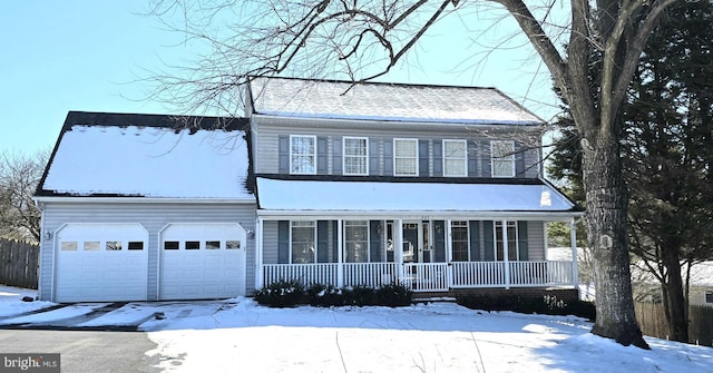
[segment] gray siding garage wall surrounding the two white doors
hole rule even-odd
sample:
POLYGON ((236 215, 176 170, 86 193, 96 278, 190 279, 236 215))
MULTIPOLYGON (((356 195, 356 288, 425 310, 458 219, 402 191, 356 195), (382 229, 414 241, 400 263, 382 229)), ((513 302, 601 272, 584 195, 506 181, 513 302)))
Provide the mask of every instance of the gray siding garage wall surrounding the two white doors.
MULTIPOLYGON (((47 203, 43 207, 42 230, 52 233, 52 239, 40 245, 41 300, 52 297, 55 266, 55 233, 67 223, 139 223, 149 233, 148 242, 148 300, 158 297, 158 234, 169 223, 238 223, 245 230, 255 232, 254 204, 139 204, 139 203, 47 203)), ((246 292, 255 283, 255 239, 247 238, 246 292)))

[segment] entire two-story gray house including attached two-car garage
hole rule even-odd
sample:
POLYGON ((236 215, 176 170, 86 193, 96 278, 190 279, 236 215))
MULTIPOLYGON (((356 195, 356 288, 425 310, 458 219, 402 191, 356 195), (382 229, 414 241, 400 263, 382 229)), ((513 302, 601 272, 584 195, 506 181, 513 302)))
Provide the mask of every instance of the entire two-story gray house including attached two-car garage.
POLYGON ((576 289, 543 121, 490 88, 256 78, 245 118, 68 115, 38 187, 39 296, 219 298, 277 279, 576 289))

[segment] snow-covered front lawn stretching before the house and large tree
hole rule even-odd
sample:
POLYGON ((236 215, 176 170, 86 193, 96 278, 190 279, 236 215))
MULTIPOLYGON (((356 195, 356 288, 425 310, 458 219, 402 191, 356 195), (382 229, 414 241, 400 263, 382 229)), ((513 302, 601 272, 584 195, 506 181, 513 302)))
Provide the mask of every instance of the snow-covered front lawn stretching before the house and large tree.
MULTIPOLYGON (((0 296, 0 314, 20 304, 8 298, 0 296)), ((653 350, 643 351, 592 335, 577 317, 453 303, 289 310, 250 298, 133 303, 94 323, 155 313, 163 317, 140 327, 158 344, 147 354, 158 354, 167 372, 713 372, 712 347, 647 338, 653 350)))

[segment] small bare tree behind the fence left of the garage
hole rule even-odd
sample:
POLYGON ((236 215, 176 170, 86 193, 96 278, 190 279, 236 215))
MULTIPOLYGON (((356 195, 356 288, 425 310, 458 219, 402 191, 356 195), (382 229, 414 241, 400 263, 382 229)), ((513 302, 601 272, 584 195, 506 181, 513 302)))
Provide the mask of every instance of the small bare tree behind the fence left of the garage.
POLYGON ((0 237, 39 242, 41 214, 32 196, 48 158, 49 151, 0 154, 0 237))

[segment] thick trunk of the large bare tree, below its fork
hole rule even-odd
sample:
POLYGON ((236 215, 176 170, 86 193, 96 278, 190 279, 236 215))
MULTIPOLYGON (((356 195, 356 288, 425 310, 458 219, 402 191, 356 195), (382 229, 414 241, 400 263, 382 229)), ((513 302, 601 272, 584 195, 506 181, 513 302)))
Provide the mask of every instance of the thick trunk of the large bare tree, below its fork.
POLYGON ((612 131, 588 135, 583 139, 582 168, 588 241, 595 257, 597 316, 592 333, 648 350, 634 314, 619 145, 612 131))

